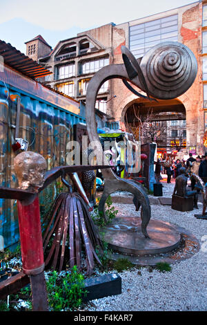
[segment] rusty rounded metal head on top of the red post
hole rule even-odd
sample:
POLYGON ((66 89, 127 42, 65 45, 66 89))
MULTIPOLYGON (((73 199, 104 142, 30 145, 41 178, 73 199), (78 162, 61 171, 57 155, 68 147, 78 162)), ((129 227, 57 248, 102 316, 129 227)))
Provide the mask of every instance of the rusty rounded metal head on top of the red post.
POLYGON ((14 158, 14 171, 19 182, 19 189, 28 189, 37 193, 43 186, 47 169, 45 158, 32 151, 24 151, 14 158))

